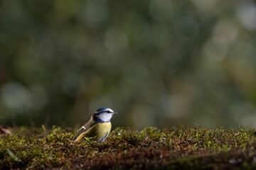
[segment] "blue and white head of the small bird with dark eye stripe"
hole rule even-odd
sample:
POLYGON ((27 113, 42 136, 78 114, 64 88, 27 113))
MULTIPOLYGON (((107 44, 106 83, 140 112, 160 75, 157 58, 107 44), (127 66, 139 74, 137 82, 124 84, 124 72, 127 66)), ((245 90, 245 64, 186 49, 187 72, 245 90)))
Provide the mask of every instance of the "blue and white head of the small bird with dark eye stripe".
POLYGON ((113 115, 116 115, 111 108, 99 108, 92 115, 92 119, 97 122, 110 122, 113 115))

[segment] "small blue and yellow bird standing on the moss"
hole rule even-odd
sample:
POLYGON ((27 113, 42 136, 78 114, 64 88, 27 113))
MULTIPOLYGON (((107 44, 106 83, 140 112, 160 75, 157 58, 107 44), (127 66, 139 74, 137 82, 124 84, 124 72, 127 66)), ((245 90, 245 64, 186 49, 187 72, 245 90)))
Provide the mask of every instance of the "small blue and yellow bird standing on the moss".
POLYGON ((111 108, 99 108, 92 114, 90 120, 78 130, 73 142, 78 142, 84 137, 95 137, 95 140, 103 142, 110 134, 112 115, 116 115, 111 108))

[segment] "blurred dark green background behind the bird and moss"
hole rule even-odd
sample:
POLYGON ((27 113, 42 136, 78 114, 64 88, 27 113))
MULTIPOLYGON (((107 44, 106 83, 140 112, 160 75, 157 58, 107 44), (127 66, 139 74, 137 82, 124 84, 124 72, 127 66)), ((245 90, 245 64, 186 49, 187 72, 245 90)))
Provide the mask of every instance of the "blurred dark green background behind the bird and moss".
POLYGON ((0 1, 0 125, 256 127, 255 1, 0 1))

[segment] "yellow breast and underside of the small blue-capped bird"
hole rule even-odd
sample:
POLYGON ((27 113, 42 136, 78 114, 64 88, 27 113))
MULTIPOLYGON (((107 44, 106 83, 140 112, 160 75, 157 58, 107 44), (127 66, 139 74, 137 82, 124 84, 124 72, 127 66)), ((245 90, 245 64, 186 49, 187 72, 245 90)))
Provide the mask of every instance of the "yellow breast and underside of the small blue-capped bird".
POLYGON ((110 134, 111 123, 97 123, 92 126, 89 130, 83 132, 77 140, 83 137, 96 137, 97 141, 103 142, 107 136, 110 134))

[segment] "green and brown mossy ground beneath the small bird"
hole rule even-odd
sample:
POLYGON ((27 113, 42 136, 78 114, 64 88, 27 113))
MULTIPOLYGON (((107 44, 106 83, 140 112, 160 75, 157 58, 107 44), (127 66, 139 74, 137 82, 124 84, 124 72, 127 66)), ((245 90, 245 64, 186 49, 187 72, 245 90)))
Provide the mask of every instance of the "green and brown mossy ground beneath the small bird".
POLYGON ((0 169, 256 169, 255 129, 142 131, 70 145, 71 128, 14 128, 0 137, 0 169))

